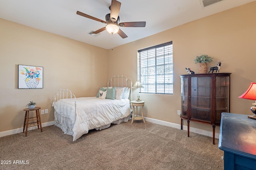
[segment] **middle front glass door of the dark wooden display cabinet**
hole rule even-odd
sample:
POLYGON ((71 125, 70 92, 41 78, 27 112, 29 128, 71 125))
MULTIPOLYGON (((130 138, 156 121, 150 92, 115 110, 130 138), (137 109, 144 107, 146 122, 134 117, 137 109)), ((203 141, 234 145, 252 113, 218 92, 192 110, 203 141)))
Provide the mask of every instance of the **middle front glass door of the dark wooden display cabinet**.
POLYGON ((211 121, 211 77, 191 78, 191 119, 211 121))

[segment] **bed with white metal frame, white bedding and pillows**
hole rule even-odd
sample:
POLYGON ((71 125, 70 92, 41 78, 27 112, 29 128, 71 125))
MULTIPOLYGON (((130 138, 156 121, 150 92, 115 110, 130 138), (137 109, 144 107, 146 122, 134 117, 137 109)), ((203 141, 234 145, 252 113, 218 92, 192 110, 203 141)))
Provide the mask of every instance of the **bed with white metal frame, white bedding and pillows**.
POLYGON ((112 76, 107 87, 100 87, 97 96, 76 98, 71 90, 58 90, 54 95, 54 125, 73 141, 91 129, 101 130, 111 123, 127 122, 131 117, 132 80, 112 76))

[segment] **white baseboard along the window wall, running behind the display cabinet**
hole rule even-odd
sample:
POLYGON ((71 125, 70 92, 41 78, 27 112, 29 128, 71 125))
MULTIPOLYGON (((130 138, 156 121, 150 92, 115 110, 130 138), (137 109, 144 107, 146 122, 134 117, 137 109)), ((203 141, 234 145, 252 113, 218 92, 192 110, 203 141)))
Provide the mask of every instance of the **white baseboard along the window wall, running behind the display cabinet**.
MULTIPOLYGON (((145 121, 149 121, 149 122, 156 123, 156 124, 159 124, 159 125, 164 125, 164 126, 169 126, 169 127, 174 127, 174 128, 180 129, 180 125, 176 124, 176 123, 170 123, 170 122, 167 122, 167 121, 152 119, 152 118, 148 118, 148 117, 144 117, 144 119, 145 119, 145 121)), ((187 126, 183 125, 182 129, 185 130, 185 131, 188 131, 187 126)), ((208 136, 208 137, 212 137, 212 131, 206 131, 206 130, 197 129, 197 128, 194 128, 194 127, 189 127, 189 131, 194 132, 194 133, 198 133, 200 135, 205 135, 205 136, 208 136)), ((215 132, 215 138, 219 139, 219 137, 220 137, 220 133, 215 132)))

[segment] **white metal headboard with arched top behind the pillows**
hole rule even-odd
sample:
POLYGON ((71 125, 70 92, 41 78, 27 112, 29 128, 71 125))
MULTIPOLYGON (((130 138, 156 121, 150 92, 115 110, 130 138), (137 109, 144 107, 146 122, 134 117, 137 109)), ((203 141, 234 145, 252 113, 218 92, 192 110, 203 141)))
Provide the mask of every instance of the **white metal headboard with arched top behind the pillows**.
POLYGON ((108 87, 128 87, 130 88, 130 101, 132 101, 132 79, 126 76, 112 76, 108 79, 108 87), (128 82, 130 81, 130 84, 128 82))

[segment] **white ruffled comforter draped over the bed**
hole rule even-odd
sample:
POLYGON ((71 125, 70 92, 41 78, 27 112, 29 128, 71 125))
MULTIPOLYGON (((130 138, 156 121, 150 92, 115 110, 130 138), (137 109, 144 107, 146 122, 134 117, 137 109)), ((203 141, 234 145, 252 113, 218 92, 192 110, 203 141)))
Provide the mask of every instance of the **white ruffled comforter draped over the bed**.
POLYGON ((119 124, 130 118, 130 100, 110 100, 96 97, 62 99, 53 103, 55 125, 64 133, 73 136, 73 141, 90 129, 105 129, 111 123, 119 124), (63 102, 64 101, 64 102, 63 102), (68 104, 66 104, 68 103, 68 104), (70 114, 72 113, 72 114, 70 114))

